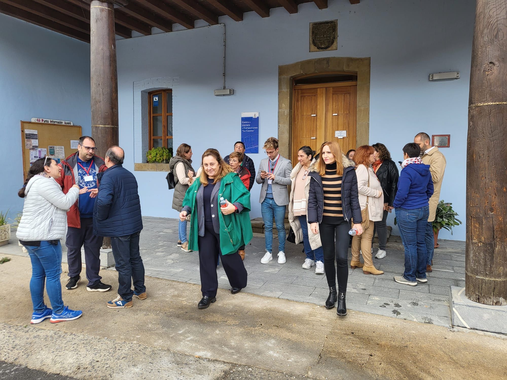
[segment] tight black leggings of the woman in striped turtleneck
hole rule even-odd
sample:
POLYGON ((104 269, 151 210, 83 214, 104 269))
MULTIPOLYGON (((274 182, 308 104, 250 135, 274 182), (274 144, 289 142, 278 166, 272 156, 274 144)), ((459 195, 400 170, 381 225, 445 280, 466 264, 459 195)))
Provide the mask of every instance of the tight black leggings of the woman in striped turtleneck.
POLYGON ((320 241, 324 250, 325 277, 329 286, 335 286, 338 278, 338 291, 343 293, 347 291, 349 230, 350 222, 345 219, 338 224, 319 224, 320 241))

